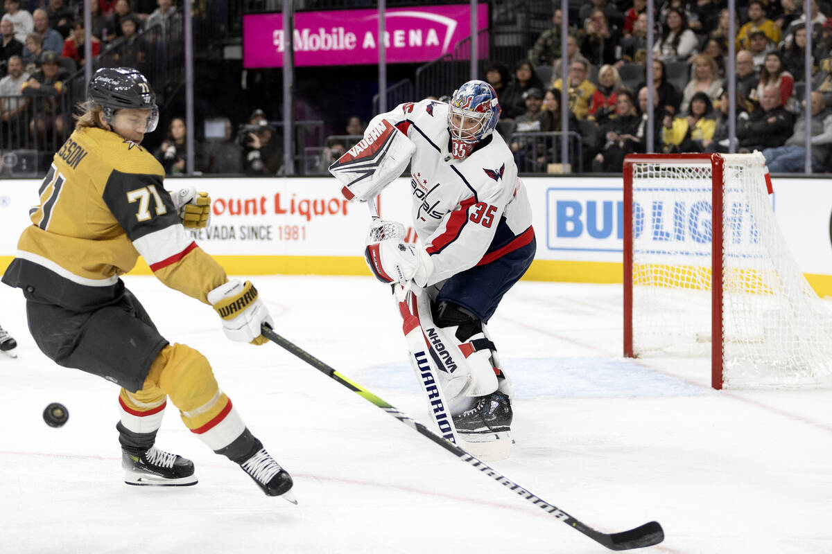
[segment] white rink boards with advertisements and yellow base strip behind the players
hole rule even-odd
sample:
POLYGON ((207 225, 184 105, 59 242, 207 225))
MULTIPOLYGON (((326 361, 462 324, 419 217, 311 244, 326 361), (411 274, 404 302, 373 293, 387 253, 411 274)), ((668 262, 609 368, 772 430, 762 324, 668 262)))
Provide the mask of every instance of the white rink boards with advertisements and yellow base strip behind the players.
MULTIPOLYGON (((563 282, 622 281, 622 179, 524 178, 532 203, 537 257, 525 278, 563 282)), ((0 180, 0 271, 30 224, 40 182, 0 180)), ((213 200, 210 228, 193 232, 202 248, 232 274, 366 275, 362 257, 369 212, 347 203, 333 179, 169 179, 213 200)), ((830 179, 773 179, 772 202, 786 243, 810 284, 832 296, 830 179)), ((411 221, 407 179, 385 189, 383 218, 411 221)), ((644 207, 646 210, 655 206, 644 207)), ((671 213, 672 207, 666 207, 671 213)), ((652 218, 651 221, 654 221, 652 218)), ((690 222, 681 222, 690 228, 690 222)), ((660 223, 661 224, 661 223, 660 223)), ((673 223, 666 225, 672 228, 673 223)), ((408 228, 409 240, 414 239, 408 228)), ((150 269, 141 261, 134 273, 150 269)))

